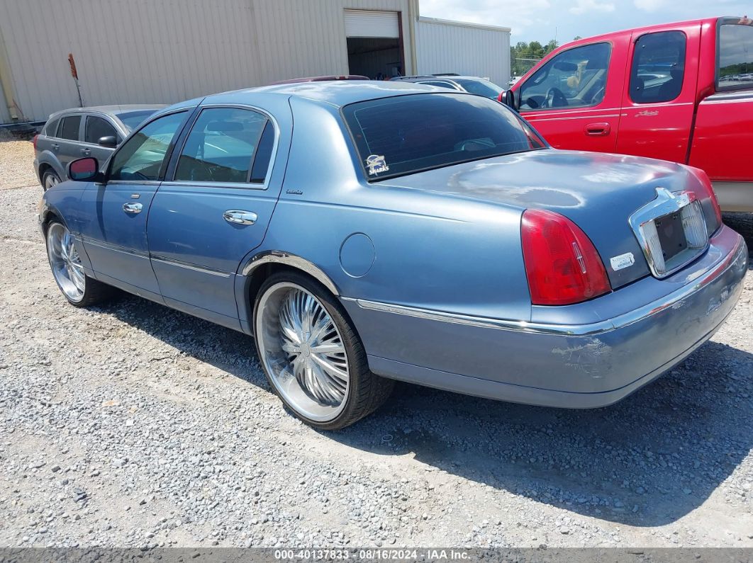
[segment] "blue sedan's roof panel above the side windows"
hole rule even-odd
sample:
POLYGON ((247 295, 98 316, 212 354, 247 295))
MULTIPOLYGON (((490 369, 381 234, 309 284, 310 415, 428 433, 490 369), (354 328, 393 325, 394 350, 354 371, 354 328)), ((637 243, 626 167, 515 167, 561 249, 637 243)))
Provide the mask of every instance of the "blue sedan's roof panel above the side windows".
MULTIPOLYGON (((196 103, 201 104, 248 104, 261 101, 268 96, 286 98, 305 98, 319 101, 335 107, 342 107, 356 101, 391 98, 396 95, 424 94, 427 92, 447 93, 447 89, 424 84, 392 82, 391 80, 333 80, 330 82, 288 83, 272 86, 260 86, 221 92, 209 95, 196 103)), ((186 107, 188 102, 181 102, 169 107, 167 111, 186 107)))

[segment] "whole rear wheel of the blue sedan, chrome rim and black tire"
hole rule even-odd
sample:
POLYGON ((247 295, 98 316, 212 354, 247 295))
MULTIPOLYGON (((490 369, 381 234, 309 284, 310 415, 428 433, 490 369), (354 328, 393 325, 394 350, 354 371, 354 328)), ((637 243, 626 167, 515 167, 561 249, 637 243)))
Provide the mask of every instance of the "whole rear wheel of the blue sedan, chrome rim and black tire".
POLYGON ((343 306, 320 283, 281 272, 254 307, 256 349, 270 385, 295 416, 339 430, 377 410, 394 381, 369 371, 343 306))

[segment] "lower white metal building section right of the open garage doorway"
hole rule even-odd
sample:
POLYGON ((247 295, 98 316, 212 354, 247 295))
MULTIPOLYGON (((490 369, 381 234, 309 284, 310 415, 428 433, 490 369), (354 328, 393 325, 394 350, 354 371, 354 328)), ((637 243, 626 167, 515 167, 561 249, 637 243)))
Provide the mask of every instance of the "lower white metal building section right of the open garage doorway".
POLYGON ((416 26, 419 74, 456 72, 510 81, 510 29, 420 17, 416 26))

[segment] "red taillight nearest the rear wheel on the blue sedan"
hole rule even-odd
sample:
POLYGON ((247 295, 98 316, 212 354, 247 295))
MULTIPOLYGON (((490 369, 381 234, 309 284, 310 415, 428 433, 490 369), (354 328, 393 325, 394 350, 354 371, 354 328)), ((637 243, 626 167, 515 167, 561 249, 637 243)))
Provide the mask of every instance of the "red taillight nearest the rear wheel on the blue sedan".
POLYGON ((596 248, 567 217, 526 210, 521 234, 533 304, 567 305, 611 291, 596 248))

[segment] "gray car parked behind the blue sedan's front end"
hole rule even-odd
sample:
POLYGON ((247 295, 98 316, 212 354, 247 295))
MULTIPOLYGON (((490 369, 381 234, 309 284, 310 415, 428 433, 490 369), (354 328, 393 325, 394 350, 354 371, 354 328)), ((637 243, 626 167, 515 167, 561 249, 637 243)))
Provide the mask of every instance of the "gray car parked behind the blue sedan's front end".
POLYGON ((75 107, 50 115, 34 138, 34 169, 47 191, 67 180, 69 162, 93 156, 105 162, 130 132, 164 105, 75 107))

